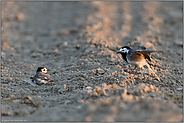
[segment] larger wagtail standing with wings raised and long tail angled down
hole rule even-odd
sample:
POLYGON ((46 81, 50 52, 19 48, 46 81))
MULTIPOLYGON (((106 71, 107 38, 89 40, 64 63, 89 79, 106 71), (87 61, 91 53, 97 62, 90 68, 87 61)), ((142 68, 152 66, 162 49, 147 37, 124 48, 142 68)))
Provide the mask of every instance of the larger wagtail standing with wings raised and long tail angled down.
MULTIPOLYGON (((152 52, 160 52, 160 51, 133 50, 129 46, 123 46, 117 52, 117 54, 120 53, 122 55, 123 59, 127 63, 135 66, 132 73, 136 72, 137 70, 139 70, 143 66, 147 66, 149 68, 149 70, 152 73, 154 73, 154 75, 156 75, 155 72, 150 67, 151 53, 152 52), (138 69, 136 69, 137 67, 138 67, 138 69)), ((157 76, 157 78, 160 81, 160 78, 158 76, 157 76)))

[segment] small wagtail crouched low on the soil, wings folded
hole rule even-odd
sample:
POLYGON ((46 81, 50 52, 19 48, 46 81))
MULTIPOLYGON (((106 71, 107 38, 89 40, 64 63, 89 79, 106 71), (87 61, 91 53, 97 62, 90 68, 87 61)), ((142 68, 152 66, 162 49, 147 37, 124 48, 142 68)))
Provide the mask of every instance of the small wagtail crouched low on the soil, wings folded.
POLYGON ((32 85, 42 85, 50 81, 50 75, 44 67, 38 67, 36 74, 30 77, 32 85))

